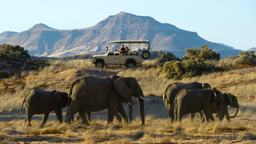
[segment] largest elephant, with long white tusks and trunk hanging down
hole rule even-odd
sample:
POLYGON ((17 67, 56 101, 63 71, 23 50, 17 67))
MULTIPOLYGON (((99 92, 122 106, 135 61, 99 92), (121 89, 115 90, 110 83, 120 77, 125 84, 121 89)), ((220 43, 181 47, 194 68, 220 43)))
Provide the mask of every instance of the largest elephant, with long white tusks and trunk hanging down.
POLYGON ((124 111, 122 100, 132 103, 132 96, 138 98, 142 124, 145 124, 144 95, 140 85, 133 77, 106 76, 83 77, 70 86, 69 96, 71 103, 65 122, 70 123, 74 114, 79 112, 82 123, 90 125, 86 119, 85 111, 100 111, 108 108, 108 124, 113 122, 114 115, 118 112, 126 122, 127 115, 124 111))

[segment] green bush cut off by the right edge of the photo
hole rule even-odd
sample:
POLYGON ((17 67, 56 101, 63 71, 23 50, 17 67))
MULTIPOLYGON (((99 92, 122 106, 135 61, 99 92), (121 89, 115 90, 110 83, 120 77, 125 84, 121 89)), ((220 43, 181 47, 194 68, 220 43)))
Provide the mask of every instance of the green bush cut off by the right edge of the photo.
POLYGON ((254 51, 239 52, 238 58, 234 61, 233 65, 256 65, 256 53, 254 51))

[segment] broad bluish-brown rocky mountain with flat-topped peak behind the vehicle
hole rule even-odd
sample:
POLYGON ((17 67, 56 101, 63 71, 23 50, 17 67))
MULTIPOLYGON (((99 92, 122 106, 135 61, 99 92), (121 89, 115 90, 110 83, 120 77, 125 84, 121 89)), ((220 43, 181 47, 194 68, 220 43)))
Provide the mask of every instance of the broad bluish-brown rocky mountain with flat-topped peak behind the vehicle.
POLYGON ((214 51, 220 52, 221 57, 238 55, 241 51, 225 44, 209 42, 196 32, 160 23, 152 17, 126 12, 108 16, 96 25, 83 29, 58 30, 39 23, 21 33, 10 34, 2 43, 19 44, 28 49, 32 56, 60 57, 105 52, 105 46, 117 46, 107 44, 107 41, 140 39, 150 41, 150 50, 173 52, 179 57, 185 55, 185 49, 202 45, 208 45, 214 51))

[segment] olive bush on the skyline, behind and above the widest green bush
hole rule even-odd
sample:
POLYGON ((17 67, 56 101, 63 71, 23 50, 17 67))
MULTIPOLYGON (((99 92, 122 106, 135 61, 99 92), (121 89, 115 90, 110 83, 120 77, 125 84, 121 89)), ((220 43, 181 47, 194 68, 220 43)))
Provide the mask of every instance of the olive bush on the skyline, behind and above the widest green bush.
POLYGON ((216 53, 209 49, 207 45, 203 45, 200 48, 189 48, 185 50, 186 55, 183 59, 200 58, 202 60, 220 60, 220 53, 216 53))

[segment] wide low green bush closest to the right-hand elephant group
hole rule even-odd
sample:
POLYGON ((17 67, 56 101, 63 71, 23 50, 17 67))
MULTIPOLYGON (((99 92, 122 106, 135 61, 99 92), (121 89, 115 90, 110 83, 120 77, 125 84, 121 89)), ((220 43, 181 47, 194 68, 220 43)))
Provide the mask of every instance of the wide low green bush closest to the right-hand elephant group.
POLYGON ((191 57, 189 60, 168 61, 164 63, 163 73, 167 78, 180 79, 182 77, 192 77, 202 75, 203 72, 211 72, 214 66, 205 63, 199 58, 191 57))

